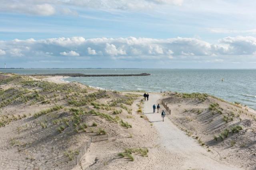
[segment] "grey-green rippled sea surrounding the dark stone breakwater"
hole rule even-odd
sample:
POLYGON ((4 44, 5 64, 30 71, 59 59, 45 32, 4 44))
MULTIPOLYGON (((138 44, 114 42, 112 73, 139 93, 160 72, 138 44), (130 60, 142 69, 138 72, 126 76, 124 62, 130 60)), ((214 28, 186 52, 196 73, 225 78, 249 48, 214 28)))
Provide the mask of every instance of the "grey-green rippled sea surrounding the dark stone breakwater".
POLYGON ((65 81, 110 90, 146 90, 208 93, 229 102, 240 102, 256 109, 256 70, 196 70, 196 69, 0 69, 19 74, 84 73, 140 74, 128 77, 70 77, 65 81), (222 82, 222 78, 224 81, 222 82))

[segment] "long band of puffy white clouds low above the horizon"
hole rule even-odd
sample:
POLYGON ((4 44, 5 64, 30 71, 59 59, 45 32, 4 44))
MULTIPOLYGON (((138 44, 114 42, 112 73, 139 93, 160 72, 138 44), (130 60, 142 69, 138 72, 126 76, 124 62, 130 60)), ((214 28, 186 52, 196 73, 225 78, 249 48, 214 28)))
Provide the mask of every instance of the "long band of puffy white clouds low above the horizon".
POLYGON ((80 56, 94 59, 94 56, 105 59, 120 60, 200 60, 220 57, 256 54, 256 37, 225 37, 217 44, 208 43, 196 38, 92 38, 84 37, 50 38, 50 39, 14 39, 0 41, 0 54, 9 57, 60 57, 80 56), (199 58, 198 58, 199 57, 199 58), (204 57, 204 58, 202 58, 204 57))

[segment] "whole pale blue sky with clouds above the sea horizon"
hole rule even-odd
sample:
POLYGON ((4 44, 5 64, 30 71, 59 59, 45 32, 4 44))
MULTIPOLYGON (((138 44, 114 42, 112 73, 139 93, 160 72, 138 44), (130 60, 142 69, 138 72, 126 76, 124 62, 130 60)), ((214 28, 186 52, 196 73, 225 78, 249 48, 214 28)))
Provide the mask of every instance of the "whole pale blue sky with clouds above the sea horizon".
POLYGON ((0 68, 256 68, 255 0, 0 4, 0 68))

